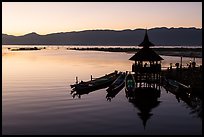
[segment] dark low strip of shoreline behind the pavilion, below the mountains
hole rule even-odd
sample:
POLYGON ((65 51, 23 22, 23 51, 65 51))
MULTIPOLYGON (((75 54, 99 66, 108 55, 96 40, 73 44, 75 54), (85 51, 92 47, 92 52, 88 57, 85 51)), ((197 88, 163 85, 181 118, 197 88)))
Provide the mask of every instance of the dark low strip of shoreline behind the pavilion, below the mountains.
MULTIPOLYGON (((202 58, 202 48, 152 48, 157 54, 165 56, 178 56, 178 57, 195 57, 202 58)), ((74 47, 67 48, 67 50, 80 50, 80 51, 105 51, 105 52, 126 52, 135 53, 140 49, 138 48, 83 48, 74 47)))

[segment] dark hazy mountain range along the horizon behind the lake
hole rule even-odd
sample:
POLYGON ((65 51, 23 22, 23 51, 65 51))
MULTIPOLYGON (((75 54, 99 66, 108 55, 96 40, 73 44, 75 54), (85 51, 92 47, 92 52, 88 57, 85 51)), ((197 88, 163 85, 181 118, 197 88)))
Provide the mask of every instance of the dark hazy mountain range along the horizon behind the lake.
MULTIPOLYGON (((85 30, 39 35, 35 32, 23 36, 2 34, 2 45, 111 45, 136 46, 144 39, 145 29, 85 30)), ((149 40, 158 46, 201 46, 202 28, 152 28, 149 40)))

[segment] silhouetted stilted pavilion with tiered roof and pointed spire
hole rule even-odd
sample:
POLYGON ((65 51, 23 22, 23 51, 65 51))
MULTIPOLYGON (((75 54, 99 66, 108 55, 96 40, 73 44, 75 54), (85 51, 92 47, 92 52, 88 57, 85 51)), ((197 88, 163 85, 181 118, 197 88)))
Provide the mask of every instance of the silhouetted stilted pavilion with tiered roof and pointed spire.
POLYGON ((154 52, 150 46, 154 46, 149 41, 147 30, 144 40, 139 46, 143 48, 135 53, 129 60, 135 61, 132 65, 132 72, 135 72, 135 81, 137 87, 155 87, 160 82, 161 58, 154 52))

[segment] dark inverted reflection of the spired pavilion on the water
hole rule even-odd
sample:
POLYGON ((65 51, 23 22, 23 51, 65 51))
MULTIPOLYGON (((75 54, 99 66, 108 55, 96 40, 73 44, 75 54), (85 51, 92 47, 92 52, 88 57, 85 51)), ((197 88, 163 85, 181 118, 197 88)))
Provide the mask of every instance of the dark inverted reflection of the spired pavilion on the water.
POLYGON ((152 109, 158 107, 161 103, 161 101, 158 101, 160 94, 160 89, 155 88, 137 88, 132 93, 126 90, 128 101, 140 111, 138 116, 142 120, 144 129, 147 121, 153 116, 152 109))

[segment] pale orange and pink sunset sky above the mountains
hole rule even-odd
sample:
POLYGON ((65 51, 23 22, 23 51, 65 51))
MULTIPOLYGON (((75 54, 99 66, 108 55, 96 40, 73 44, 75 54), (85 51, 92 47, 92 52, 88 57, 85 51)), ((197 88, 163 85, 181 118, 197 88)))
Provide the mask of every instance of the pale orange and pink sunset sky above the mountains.
POLYGON ((2 33, 202 28, 202 2, 2 2, 2 33))

